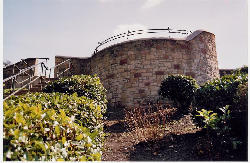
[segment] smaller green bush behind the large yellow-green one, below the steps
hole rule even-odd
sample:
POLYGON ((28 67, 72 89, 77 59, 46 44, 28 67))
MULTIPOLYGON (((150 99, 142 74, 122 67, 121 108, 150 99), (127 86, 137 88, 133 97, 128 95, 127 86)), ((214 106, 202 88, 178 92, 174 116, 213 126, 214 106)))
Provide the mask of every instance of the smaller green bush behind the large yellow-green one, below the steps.
POLYGON ((60 92, 66 94, 77 93, 98 101, 101 105, 107 102, 106 89, 96 75, 73 75, 49 83, 44 89, 46 93, 60 92))

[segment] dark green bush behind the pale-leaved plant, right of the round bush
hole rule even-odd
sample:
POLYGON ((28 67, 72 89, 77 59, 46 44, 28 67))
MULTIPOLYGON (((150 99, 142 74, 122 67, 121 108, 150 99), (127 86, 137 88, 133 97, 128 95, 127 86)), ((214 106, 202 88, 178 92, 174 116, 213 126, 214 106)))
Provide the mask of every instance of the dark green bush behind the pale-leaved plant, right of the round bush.
POLYGON ((196 91, 196 107, 217 112, 218 108, 233 105, 237 99, 238 86, 247 80, 247 74, 232 74, 205 83, 196 91))

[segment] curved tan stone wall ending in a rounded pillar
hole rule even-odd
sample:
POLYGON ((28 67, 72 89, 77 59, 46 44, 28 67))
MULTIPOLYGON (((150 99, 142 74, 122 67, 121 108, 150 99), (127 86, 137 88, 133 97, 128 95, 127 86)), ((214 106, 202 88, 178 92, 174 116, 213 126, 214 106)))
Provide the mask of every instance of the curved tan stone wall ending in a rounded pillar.
MULTIPOLYGON (((70 57, 56 57, 56 62, 70 57)), ((111 104, 154 101, 168 74, 194 77, 199 84, 219 77, 215 36, 196 31, 185 39, 149 38, 107 47, 91 58, 73 58, 73 74, 97 74, 111 104)))

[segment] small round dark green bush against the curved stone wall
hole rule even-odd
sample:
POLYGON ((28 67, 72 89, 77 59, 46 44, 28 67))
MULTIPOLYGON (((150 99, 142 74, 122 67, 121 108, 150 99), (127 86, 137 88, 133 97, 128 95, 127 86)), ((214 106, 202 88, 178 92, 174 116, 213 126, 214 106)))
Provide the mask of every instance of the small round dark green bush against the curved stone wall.
POLYGON ((191 105, 197 88, 196 81, 191 77, 169 75, 162 81, 159 95, 172 100, 174 106, 184 113, 191 105))

